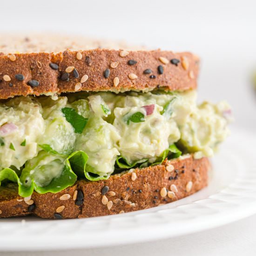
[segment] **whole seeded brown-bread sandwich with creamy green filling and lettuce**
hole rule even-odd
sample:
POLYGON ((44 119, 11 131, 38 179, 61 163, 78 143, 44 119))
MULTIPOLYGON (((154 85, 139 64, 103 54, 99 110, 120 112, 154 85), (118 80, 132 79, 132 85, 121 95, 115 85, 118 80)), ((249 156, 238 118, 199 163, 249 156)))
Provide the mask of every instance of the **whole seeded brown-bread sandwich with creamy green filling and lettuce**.
POLYGON ((203 189, 229 135, 199 59, 83 38, 1 38, 0 217, 147 209, 203 189))

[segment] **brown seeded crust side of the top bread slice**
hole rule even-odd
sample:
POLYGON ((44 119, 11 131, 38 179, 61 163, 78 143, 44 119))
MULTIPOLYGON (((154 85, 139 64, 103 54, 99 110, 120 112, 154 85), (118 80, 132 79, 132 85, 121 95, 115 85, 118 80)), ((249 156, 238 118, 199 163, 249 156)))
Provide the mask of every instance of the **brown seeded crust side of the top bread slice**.
POLYGON ((0 55, 0 99, 18 95, 75 91, 111 90, 120 92, 152 90, 159 87, 172 91, 183 91, 196 88, 199 60, 190 53, 175 54, 160 50, 130 51, 124 57, 120 55, 121 50, 94 49, 80 51, 80 53, 81 59, 77 58, 77 51, 68 50, 57 54, 12 54, 15 55, 14 61, 10 55, 0 55), (164 61, 162 57, 165 58, 164 61), (173 59, 177 59, 179 62, 173 64, 170 62, 173 59), (129 60, 135 60, 137 63, 129 65, 129 60), (111 63, 115 61, 118 63, 117 67, 115 65, 111 67, 111 63), (58 69, 51 68, 50 63, 57 64, 58 69), (159 66, 162 67, 159 68, 159 66), (72 71, 69 73, 68 81, 62 81, 61 75, 65 73, 67 67, 75 67, 79 77, 75 78, 72 71), (104 76, 106 69, 109 69, 110 74, 104 76), (152 73, 144 74, 146 69, 151 69, 152 73), (24 80, 19 81, 15 78, 16 74, 22 74, 24 80), (137 77, 129 74, 135 74, 137 77), (6 75, 10 80, 6 79, 6 75), (76 86, 84 75, 88 75, 88 80, 76 86), (118 81, 116 79, 114 85, 116 77, 119 83, 116 82, 118 81), (39 85, 29 85, 31 80, 38 81, 39 85))

